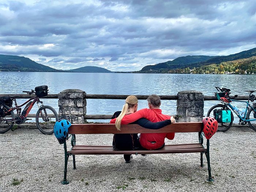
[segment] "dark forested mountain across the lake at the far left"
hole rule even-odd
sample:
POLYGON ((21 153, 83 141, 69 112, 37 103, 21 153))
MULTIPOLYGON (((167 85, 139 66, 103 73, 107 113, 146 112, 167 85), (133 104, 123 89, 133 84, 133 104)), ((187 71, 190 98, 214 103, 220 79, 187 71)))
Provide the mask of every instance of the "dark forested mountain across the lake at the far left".
POLYGON ((57 72, 59 70, 36 63, 27 57, 0 54, 0 71, 57 72))

